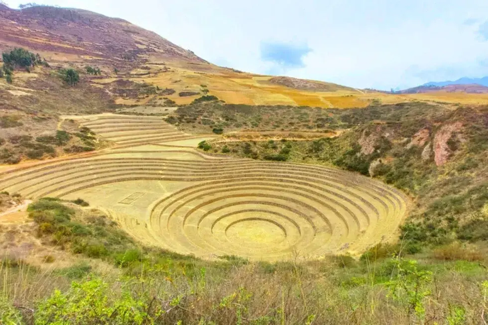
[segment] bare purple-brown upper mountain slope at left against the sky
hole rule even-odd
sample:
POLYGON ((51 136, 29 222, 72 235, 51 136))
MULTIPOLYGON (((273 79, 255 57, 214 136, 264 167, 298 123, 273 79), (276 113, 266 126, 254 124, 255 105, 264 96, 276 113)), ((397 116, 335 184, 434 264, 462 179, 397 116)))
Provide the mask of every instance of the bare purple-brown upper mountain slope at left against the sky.
POLYGON ((60 52, 113 64, 134 61, 149 53, 205 62, 156 33, 86 10, 49 6, 14 10, 3 6, 0 25, 2 49, 22 45, 37 52, 60 52))

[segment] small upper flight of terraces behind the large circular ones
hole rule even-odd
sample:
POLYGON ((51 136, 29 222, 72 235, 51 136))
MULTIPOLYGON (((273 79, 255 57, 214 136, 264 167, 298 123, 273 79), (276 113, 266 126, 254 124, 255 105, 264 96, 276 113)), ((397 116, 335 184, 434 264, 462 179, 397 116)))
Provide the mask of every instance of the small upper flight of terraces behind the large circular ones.
POLYGON ((164 122, 161 117, 99 114, 87 116, 64 116, 76 120, 106 140, 119 146, 134 146, 147 143, 180 142, 200 138, 192 136, 164 122))

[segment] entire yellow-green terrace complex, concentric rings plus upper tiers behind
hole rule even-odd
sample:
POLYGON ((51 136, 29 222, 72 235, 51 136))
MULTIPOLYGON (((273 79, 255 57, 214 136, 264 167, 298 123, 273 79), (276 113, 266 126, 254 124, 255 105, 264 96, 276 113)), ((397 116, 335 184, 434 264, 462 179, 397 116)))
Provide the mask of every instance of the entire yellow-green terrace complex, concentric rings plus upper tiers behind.
POLYGON ((83 198, 144 244, 205 258, 358 254, 392 237, 407 210, 399 191, 354 173, 201 154, 201 139, 157 118, 81 122, 122 146, 4 171, 0 190, 83 198))

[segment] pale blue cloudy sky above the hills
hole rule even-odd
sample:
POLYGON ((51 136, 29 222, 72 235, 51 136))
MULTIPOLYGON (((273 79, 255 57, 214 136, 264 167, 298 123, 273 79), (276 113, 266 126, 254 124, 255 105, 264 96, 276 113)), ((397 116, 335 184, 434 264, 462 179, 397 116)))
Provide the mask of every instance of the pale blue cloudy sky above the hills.
POLYGON ((36 2, 121 17, 215 64, 260 74, 377 89, 488 76, 487 0, 36 2))

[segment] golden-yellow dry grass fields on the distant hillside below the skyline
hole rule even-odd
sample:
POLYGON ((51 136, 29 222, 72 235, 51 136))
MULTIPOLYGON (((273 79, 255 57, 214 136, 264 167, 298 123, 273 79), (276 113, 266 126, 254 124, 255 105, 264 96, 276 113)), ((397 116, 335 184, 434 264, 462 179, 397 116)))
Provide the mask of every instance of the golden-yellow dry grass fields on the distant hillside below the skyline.
MULTIPOLYGON (((431 101, 463 104, 488 103, 488 94, 466 94, 431 92, 422 94, 385 94, 374 91, 356 90, 353 88, 339 88, 337 91, 309 91, 286 87, 269 82, 271 76, 260 76, 248 73, 238 73, 227 68, 220 68, 206 64, 190 64, 184 62, 166 62, 167 72, 160 72, 161 63, 152 60, 146 65, 150 70, 134 70, 129 78, 132 81, 144 81, 160 88, 172 88, 176 93, 166 96, 177 104, 188 104, 199 95, 179 97, 181 91, 201 91, 201 85, 206 85, 209 94, 231 104, 248 105, 303 105, 323 108, 351 108, 366 107, 372 101, 384 104, 395 104, 406 101, 431 101), (142 72, 145 76, 134 76, 142 72)), ((103 82, 103 81, 96 81, 103 82)), ((152 97, 135 100, 118 100, 118 103, 134 104, 146 103, 152 97)))

